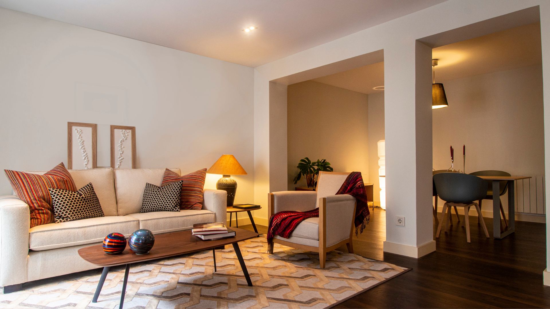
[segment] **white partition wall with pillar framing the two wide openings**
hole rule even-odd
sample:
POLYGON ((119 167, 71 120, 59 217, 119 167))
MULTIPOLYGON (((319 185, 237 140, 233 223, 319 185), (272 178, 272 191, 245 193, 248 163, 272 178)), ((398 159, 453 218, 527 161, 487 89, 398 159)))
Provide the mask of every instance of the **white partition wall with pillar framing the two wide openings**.
MULTIPOLYGON (((384 247, 384 251, 410 256, 412 256, 412 253, 414 252, 418 254, 428 253, 430 252, 429 250, 434 250, 434 247, 432 246, 428 248, 429 250, 425 250, 425 245, 427 245, 428 242, 431 242, 431 240, 427 241, 427 239, 432 238, 433 232, 430 230, 420 231, 417 229, 417 226, 426 225, 431 213, 426 212, 425 214, 422 214, 422 216, 419 216, 419 213, 417 212, 410 212, 411 208, 426 208, 423 202, 426 200, 429 204, 431 199, 428 196, 430 195, 430 192, 428 191, 431 189, 425 190, 425 187, 417 184, 418 181, 423 182, 423 180, 419 180, 417 177, 419 176, 418 173, 421 173, 421 178, 426 178, 429 183, 431 177, 428 175, 430 174, 430 168, 426 168, 423 162, 420 164, 419 162, 416 162, 416 158, 411 159, 411 155, 416 156, 418 154, 415 143, 420 140, 417 140, 418 136, 415 128, 416 120, 418 120, 416 113, 417 110, 414 108, 411 109, 410 107, 411 104, 414 105, 417 103, 416 100, 412 100, 411 98, 416 98, 416 92, 418 89, 416 89, 414 85, 410 85, 410 83, 414 83, 416 80, 415 71, 419 69, 417 68, 417 65, 423 66, 425 64, 423 62, 417 63, 416 58, 420 57, 422 60, 427 60, 428 68, 430 68, 431 60, 429 59, 431 58, 430 56, 424 57, 424 52, 419 52, 415 49, 415 40, 420 40, 445 31, 461 29, 461 27, 476 24, 480 21, 497 18, 498 16, 514 13, 516 11, 535 6, 540 9, 543 78, 545 81, 548 81, 550 80, 550 67, 548 64, 548 62, 550 62, 550 3, 548 1, 449 0, 438 5, 434 5, 433 7, 420 10, 419 12, 388 21, 387 23, 356 32, 355 34, 351 34, 349 36, 338 38, 337 40, 255 68, 256 78, 254 105, 256 108, 263 108, 262 112, 259 111, 255 113, 255 121, 276 121, 276 119, 271 118, 269 109, 271 109, 271 105, 275 103, 283 104, 281 102, 270 102, 268 94, 269 89, 267 87, 269 81, 303 71, 309 71, 329 64, 339 63, 346 59, 351 59, 383 49, 384 84, 386 85, 386 91, 384 91, 384 106, 386 107, 386 150, 387 154, 391 149, 402 150, 393 157, 387 156, 386 163, 387 166, 392 164, 398 165, 398 168, 401 166, 400 163, 405 163, 403 164, 403 167, 408 167, 409 165, 419 167, 419 169, 401 169, 395 174, 398 178, 408 179, 408 182, 399 181, 398 178, 390 179, 389 177, 386 180, 388 194, 390 191, 393 191, 397 194, 409 196, 407 200, 390 201, 388 199, 388 207, 397 209, 399 212, 407 213, 408 216, 410 214, 410 217, 406 218, 406 226, 403 228, 395 228, 395 225, 393 225, 393 218, 387 218, 388 241, 395 245, 393 248, 395 250, 389 249, 389 247, 384 247), (413 133, 411 133, 409 138, 413 139, 414 142, 412 142, 412 145, 403 145, 401 143, 402 140, 399 138, 399 134, 409 134, 410 131, 413 133), (427 176, 425 176, 425 174, 427 176), (412 192, 412 195, 409 194, 410 192, 412 192), (416 194, 426 196, 424 196, 423 200, 420 202, 417 200, 416 194), (412 224, 409 225, 409 222, 412 222, 412 224)), ((497 24, 498 23, 494 23, 491 24, 491 26, 497 26, 497 24)), ((488 29, 488 27, 484 26, 483 29, 475 28, 475 31, 468 31, 467 33, 458 31, 453 32, 452 35, 460 35, 460 39, 457 40, 460 41, 466 38, 471 38, 468 37, 468 34, 477 36, 486 34, 487 32, 483 31, 487 31, 488 29)), ((470 30, 472 30, 471 27, 470 30)), ((453 40, 451 37, 448 37, 448 39, 451 40, 450 42, 453 40)), ((311 76, 311 78, 316 77, 320 76, 311 76)), ((427 84, 430 84, 430 80, 427 81, 427 84)), ((548 99, 548 96, 550 95, 550 83, 544 82, 543 88, 545 90, 544 93, 546 93, 544 104, 548 105, 550 104, 550 100, 548 99)), ((544 118, 548 123, 550 123, 550 106, 547 106, 547 108, 544 109, 544 118)), ((547 145, 545 151, 545 162, 550 162, 550 126, 546 126, 546 128, 548 129, 545 129, 545 145, 547 145)), ((255 140, 270 139, 269 128, 266 129, 265 127, 259 127, 258 129, 259 130, 255 131, 255 140)), ((425 137, 423 135, 425 134, 422 134, 421 139, 429 140, 431 144, 431 133, 430 137, 425 137)), ((424 145, 425 143, 421 144, 424 145)), ((256 164, 269 160, 268 156, 261 156, 260 154, 279 151, 279 147, 277 147, 277 145, 268 145, 266 147, 265 144, 255 144, 254 147, 255 153, 259 154, 259 156, 254 158, 256 164)), ((429 148, 430 153, 427 157, 429 157, 431 161, 431 147, 429 148)), ((287 164, 284 165, 286 166, 287 164)), ((269 166, 266 169, 267 175, 258 177, 257 180, 263 183, 266 187, 270 187, 268 174, 272 169, 275 170, 276 168, 276 166, 269 166)), ((548 169, 546 170, 548 171, 548 169)), ((386 172, 388 175, 390 170, 387 170, 386 172)), ((548 188, 550 188, 550 184, 547 184, 547 192, 548 188)), ((263 194, 261 197, 260 195, 255 197, 257 198, 257 202, 266 201, 266 196, 263 194)), ((429 211, 429 209, 427 210, 429 211)), ((547 212, 547 218, 550 218, 548 216, 550 216, 550 212, 547 212)), ((429 220, 431 222, 432 219, 430 218, 429 220)), ((549 241, 547 246, 547 255, 548 261, 550 261, 550 228, 547 228, 547 236, 549 241)), ((548 281, 550 282, 550 279, 548 281)))

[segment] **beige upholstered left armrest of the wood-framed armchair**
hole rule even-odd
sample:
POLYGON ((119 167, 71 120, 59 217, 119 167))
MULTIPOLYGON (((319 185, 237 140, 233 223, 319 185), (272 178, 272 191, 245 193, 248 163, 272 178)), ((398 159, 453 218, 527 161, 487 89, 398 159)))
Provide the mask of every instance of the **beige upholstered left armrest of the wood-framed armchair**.
POLYGON ((267 197, 267 218, 281 211, 309 211, 315 209, 315 191, 279 191, 267 197))

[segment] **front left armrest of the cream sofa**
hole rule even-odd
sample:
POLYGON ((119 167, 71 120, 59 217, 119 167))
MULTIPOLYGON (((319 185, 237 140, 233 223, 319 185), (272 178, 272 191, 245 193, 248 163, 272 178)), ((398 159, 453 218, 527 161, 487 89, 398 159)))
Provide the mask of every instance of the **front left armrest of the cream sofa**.
POLYGON ((0 286, 27 281, 29 205, 17 196, 0 196, 0 286))

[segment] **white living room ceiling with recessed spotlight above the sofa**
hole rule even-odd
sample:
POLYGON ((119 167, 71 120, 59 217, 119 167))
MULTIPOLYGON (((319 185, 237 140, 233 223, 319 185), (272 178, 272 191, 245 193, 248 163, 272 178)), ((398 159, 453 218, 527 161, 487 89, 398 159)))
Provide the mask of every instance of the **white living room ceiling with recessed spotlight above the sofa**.
POLYGON ((257 67, 445 0, 0 0, 0 7, 257 67), (246 33, 245 27, 257 30, 246 33))

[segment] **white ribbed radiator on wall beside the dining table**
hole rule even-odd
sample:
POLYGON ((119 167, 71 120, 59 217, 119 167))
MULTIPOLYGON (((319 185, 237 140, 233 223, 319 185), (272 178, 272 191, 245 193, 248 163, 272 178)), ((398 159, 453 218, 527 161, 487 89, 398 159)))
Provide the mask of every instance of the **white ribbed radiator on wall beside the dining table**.
POLYGON ((545 187, 543 175, 514 181, 515 211, 527 214, 545 214, 545 187))

